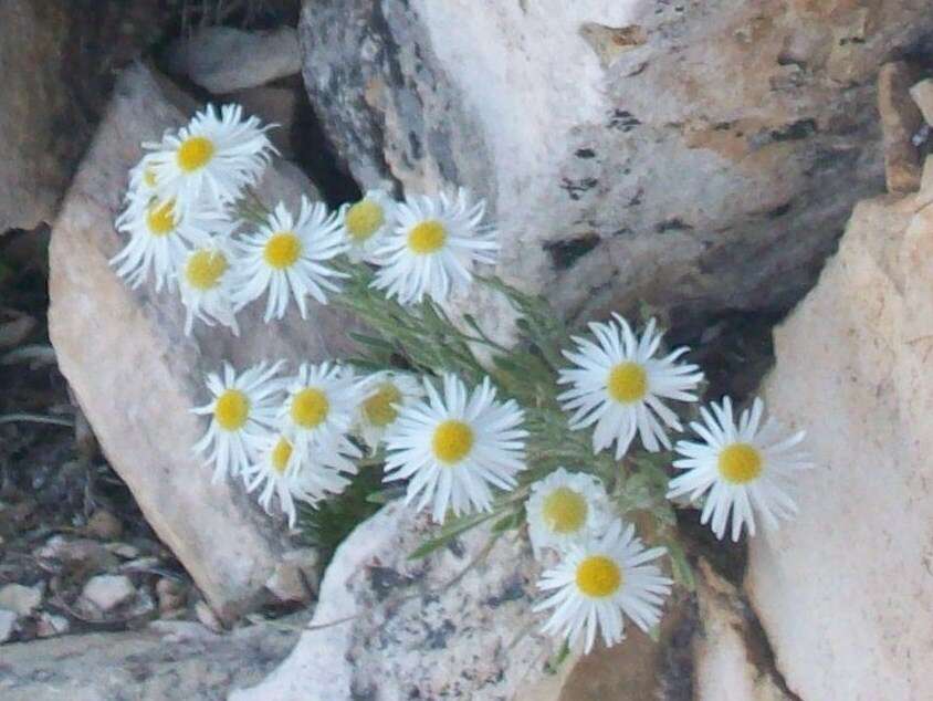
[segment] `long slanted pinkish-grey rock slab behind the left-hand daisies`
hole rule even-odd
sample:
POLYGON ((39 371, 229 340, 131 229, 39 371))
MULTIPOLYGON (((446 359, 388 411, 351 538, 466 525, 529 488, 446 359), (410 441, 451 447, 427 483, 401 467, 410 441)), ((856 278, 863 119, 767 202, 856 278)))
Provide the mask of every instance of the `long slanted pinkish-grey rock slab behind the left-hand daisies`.
MULTIPOLYGON (((346 323, 312 306, 283 322, 262 323, 262 303, 241 315, 241 335, 199 325, 184 334, 172 293, 129 290, 107 261, 123 245, 114 231, 127 169, 140 140, 187 121, 154 75, 138 66, 118 81, 113 104, 75 178, 51 243, 50 334, 59 365, 101 446, 133 491, 146 519, 175 552, 205 596, 230 619, 263 596, 263 584, 286 551, 282 530, 240 482, 210 483, 191 446, 206 426, 190 409, 208 399, 203 374, 223 360, 243 368, 261 359, 314 360, 346 349, 346 323)), ((261 187, 268 203, 314 195, 290 164, 261 187)))

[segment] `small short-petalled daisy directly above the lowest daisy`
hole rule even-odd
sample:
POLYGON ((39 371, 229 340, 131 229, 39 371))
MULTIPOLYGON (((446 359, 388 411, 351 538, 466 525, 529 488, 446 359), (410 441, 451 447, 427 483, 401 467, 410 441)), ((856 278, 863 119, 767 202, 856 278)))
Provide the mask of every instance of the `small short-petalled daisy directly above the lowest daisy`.
POLYGON ((525 511, 528 535, 537 554, 545 547, 564 550, 591 533, 601 532, 610 506, 598 479, 558 468, 532 484, 525 511))

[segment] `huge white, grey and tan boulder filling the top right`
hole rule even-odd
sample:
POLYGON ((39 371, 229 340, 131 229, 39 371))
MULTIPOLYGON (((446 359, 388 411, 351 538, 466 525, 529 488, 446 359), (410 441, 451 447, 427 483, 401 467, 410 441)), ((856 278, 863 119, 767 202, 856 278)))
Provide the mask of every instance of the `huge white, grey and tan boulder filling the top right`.
POLYGON ((883 182, 874 74, 924 0, 305 2, 364 186, 469 186, 564 312, 786 306, 883 182))

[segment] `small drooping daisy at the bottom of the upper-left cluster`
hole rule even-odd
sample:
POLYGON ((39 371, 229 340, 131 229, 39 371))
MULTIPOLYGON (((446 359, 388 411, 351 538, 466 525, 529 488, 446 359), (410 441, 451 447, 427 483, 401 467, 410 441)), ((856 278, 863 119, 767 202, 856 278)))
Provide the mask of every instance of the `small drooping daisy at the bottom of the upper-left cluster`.
POLYGON ((191 334, 196 318, 208 326, 218 322, 240 335, 233 307, 235 264, 224 234, 188 251, 177 273, 185 304, 185 335, 191 334))

